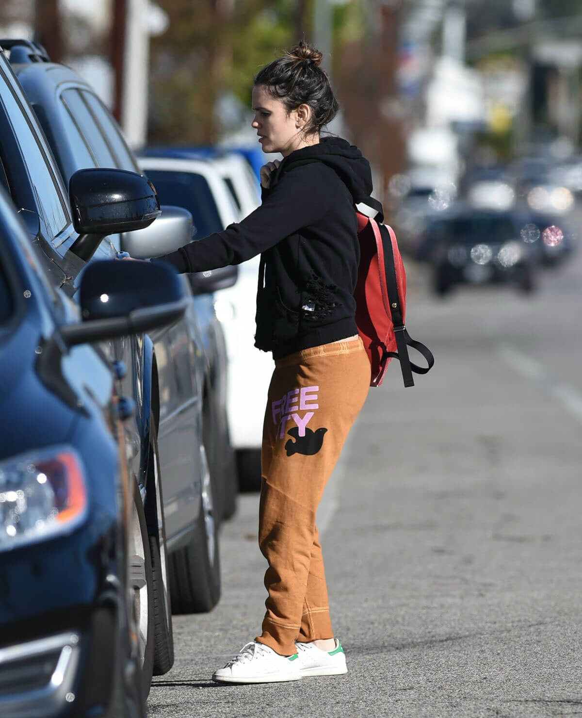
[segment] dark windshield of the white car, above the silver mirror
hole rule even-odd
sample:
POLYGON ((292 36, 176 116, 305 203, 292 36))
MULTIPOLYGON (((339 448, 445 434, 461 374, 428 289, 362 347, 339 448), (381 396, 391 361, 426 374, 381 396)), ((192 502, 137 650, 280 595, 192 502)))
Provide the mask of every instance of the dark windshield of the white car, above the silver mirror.
POLYGON ((162 169, 146 169, 146 174, 156 187, 161 205, 178 205, 192 213, 194 239, 224 229, 212 190, 202 174, 162 169))

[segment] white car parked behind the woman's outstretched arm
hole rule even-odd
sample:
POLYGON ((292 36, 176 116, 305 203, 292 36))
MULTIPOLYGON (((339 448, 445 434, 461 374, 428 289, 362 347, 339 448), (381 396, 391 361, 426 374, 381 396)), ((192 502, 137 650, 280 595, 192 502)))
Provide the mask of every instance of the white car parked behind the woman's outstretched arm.
MULTIPOLYGON (((161 149, 158 149, 161 151, 161 149)), ((212 160, 141 157, 141 167, 161 200, 172 198, 192 213, 196 237, 220 232, 240 220, 240 211, 212 160)), ((268 385, 273 373, 270 354, 254 346, 259 258, 239 265, 235 285, 215 292, 215 311, 225 330, 229 361, 227 411, 230 439, 236 449, 243 490, 261 485, 261 437, 268 385), (253 401, 249 401, 249 387, 253 401)))

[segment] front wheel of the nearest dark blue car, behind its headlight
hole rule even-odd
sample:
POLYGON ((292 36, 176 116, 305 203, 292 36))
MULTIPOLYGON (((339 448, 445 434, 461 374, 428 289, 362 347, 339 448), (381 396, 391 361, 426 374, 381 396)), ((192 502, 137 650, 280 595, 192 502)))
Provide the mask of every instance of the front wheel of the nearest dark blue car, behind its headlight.
POLYGON ((133 590, 133 612, 138 634, 141 681, 144 698, 147 698, 154 668, 154 595, 146 514, 137 482, 133 482, 128 559, 130 588, 133 590))

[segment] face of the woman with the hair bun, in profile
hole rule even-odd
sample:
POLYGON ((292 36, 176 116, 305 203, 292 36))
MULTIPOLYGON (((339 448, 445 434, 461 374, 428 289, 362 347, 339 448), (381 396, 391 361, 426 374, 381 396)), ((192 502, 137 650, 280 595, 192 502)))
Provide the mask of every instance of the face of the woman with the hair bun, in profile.
POLYGON ((265 85, 253 88, 253 110, 253 129, 257 131, 263 152, 281 152, 286 157, 301 144, 301 111, 288 113, 283 101, 271 97, 265 85))

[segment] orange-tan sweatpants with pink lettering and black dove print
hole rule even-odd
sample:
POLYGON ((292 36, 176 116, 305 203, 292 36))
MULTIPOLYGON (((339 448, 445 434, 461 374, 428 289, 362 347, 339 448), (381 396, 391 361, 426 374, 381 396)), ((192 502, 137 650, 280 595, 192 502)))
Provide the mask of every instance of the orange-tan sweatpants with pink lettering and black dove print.
POLYGON ((370 361, 359 337, 275 362, 259 504, 267 612, 255 640, 281 656, 296 653, 295 640, 334 637, 316 510, 369 386, 370 361))

